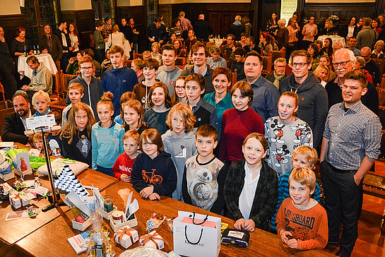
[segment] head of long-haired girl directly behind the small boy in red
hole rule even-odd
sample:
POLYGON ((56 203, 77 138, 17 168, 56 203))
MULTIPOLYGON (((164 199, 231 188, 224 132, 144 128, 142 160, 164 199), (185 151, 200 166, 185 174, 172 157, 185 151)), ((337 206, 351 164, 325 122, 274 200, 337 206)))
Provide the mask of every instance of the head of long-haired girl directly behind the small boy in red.
POLYGON ((147 125, 144 122, 144 109, 138 100, 130 100, 123 105, 124 131, 135 129, 141 134, 147 125))

